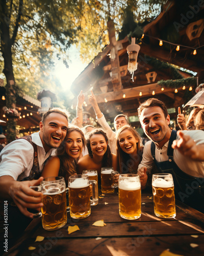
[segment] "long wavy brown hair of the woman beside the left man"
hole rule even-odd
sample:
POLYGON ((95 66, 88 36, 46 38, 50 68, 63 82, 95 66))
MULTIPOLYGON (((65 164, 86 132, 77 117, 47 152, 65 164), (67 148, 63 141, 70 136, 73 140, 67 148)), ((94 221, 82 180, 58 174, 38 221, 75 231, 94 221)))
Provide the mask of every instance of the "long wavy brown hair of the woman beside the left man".
POLYGON ((61 143, 61 145, 58 147, 58 149, 56 151, 57 156, 60 159, 60 175, 65 177, 66 180, 68 180, 69 176, 76 173, 76 165, 79 160, 79 159, 74 159, 74 161, 72 162, 72 160, 70 159, 69 155, 67 155, 66 150, 65 150, 66 140, 67 140, 69 134, 73 131, 76 131, 81 134, 82 144, 83 144, 84 149, 85 149, 85 145, 86 145, 86 139, 84 137, 84 133, 82 132, 82 130, 79 129, 79 127, 74 126, 74 125, 68 126, 66 138, 61 143))

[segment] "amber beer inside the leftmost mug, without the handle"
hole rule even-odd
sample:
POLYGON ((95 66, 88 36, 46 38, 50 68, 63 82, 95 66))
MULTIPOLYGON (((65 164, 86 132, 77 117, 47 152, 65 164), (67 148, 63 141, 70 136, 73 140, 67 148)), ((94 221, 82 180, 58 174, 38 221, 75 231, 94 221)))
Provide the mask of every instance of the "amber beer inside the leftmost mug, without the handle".
POLYGON ((59 188, 49 189, 43 194, 42 227, 46 230, 55 230, 67 223, 66 192, 60 193, 59 188))

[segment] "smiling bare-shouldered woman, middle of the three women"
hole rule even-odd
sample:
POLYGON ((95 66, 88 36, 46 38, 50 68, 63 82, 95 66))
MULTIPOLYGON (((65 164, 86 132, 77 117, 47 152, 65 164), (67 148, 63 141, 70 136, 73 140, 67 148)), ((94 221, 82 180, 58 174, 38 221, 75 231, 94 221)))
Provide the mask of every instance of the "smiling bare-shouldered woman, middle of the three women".
POLYGON ((100 170, 102 167, 113 167, 117 170, 117 157, 111 153, 108 144, 108 137, 102 129, 93 129, 87 139, 89 154, 80 158, 77 164, 78 174, 83 170, 95 169, 98 173, 98 183, 100 183, 100 170))

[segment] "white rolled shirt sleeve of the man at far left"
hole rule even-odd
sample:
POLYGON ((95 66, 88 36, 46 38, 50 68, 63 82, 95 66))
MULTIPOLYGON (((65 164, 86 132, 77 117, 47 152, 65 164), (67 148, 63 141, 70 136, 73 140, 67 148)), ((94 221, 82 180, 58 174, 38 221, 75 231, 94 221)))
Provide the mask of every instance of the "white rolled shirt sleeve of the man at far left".
POLYGON ((11 176, 17 180, 25 172, 29 176, 33 166, 34 148, 27 140, 15 140, 4 147, 0 154, 0 177, 11 176))

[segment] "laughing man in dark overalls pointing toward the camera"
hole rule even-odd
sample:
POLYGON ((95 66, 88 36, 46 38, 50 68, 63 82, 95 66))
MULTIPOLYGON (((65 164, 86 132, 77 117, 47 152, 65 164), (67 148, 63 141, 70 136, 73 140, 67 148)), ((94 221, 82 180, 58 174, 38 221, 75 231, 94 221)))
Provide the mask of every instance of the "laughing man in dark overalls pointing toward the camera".
POLYGON ((150 139, 138 166, 142 188, 146 171, 150 172, 155 163, 159 172, 172 174, 176 199, 204 212, 204 132, 171 131, 167 108, 156 98, 140 104, 138 116, 150 139))

